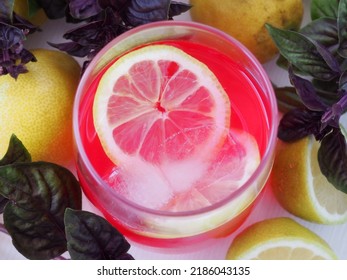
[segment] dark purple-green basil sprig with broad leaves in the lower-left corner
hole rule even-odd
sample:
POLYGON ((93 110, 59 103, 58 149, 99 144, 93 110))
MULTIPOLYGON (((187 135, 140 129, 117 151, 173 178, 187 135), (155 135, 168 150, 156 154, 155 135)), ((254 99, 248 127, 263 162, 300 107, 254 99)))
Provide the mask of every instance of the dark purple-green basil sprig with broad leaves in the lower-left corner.
POLYGON ((81 207, 74 175, 53 163, 32 162, 13 135, 0 160, 0 213, 18 252, 28 259, 54 259, 66 251, 72 259, 133 259, 123 235, 81 207))

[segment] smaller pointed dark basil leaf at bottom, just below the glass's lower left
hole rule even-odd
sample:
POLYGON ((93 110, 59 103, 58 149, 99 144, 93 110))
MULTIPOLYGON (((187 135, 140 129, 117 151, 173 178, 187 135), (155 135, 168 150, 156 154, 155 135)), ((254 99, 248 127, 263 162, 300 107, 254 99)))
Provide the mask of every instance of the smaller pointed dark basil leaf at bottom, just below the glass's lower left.
POLYGON ((87 211, 66 209, 65 231, 72 259, 133 259, 130 244, 104 218, 87 211))

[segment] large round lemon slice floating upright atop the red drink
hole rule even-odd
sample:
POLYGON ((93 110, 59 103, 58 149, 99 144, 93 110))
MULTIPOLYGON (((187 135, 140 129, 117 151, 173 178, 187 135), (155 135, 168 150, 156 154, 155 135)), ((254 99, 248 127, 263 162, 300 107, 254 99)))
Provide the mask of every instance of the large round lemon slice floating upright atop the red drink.
POLYGON ((175 47, 153 45, 110 66, 93 116, 115 164, 129 157, 161 164, 198 153, 209 157, 225 138, 230 102, 205 64, 175 47))

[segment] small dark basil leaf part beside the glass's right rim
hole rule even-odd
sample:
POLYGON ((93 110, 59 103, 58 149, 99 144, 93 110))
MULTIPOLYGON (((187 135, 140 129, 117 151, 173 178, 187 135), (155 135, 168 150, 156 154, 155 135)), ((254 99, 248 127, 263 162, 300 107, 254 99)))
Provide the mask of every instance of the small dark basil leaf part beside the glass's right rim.
POLYGON ((305 108, 294 87, 275 88, 278 109, 287 113, 295 108, 305 108))

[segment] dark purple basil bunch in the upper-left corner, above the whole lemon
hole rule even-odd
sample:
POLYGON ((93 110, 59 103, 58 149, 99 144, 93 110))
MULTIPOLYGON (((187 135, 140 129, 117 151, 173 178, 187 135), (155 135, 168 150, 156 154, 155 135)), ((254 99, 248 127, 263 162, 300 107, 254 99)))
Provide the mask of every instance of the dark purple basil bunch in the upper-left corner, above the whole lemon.
MULTIPOLYGON (((83 69, 120 34, 145 23, 172 20, 191 8, 189 4, 172 0, 27 1, 30 15, 42 8, 49 19, 65 18, 68 23, 78 24, 62 34, 69 41, 49 44, 72 56, 86 57, 83 69)), ((13 7, 14 0, 0 1, 0 76, 9 74, 17 78, 28 71, 28 62, 36 61, 24 42, 29 34, 40 29, 14 13, 13 7)))

